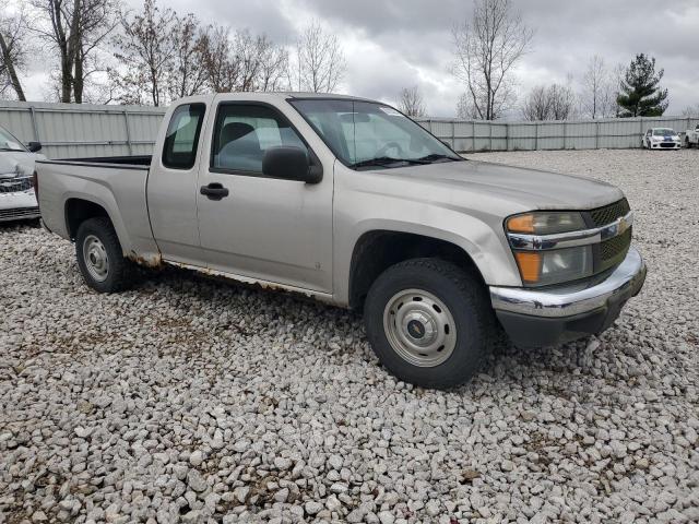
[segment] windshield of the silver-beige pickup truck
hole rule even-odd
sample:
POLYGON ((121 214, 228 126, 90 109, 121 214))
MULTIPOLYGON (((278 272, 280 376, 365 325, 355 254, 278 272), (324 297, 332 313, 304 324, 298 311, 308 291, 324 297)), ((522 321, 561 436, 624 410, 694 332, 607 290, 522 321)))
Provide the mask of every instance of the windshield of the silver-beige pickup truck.
POLYGON ((462 160, 419 124, 382 104, 292 99, 340 160, 354 169, 462 160))

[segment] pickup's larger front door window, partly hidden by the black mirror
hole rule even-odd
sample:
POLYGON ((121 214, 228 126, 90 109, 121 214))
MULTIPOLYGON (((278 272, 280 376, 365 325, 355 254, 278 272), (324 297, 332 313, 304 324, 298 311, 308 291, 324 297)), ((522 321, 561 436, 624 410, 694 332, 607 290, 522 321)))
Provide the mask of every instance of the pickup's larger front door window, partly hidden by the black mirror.
POLYGON ((216 115, 211 167, 262 172, 266 150, 279 146, 308 148, 288 121, 266 106, 222 104, 216 115))

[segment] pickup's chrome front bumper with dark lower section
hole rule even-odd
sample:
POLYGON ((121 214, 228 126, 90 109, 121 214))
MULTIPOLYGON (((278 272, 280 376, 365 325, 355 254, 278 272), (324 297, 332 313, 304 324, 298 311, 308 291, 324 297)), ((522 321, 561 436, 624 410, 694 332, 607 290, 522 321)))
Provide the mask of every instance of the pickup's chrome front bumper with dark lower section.
POLYGON ((645 281, 645 263, 630 248, 604 281, 548 289, 490 287, 490 301, 510 338, 522 346, 554 345, 604 331, 645 281))

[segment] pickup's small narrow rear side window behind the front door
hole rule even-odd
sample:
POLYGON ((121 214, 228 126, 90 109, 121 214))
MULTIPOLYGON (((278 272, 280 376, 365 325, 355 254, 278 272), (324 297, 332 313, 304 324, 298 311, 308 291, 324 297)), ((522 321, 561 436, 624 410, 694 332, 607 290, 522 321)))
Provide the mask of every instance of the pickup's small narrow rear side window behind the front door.
POLYGON ((163 146, 165 167, 191 169, 194 166, 205 110, 203 104, 187 104, 175 109, 163 146))

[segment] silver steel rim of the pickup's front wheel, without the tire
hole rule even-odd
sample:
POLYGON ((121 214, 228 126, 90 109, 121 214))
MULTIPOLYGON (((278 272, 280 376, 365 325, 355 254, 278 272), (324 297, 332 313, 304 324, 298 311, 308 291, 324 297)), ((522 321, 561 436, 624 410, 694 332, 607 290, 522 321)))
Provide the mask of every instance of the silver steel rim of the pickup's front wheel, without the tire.
POLYGON ((383 331, 393 350, 420 368, 443 364, 457 347, 451 311, 424 289, 405 289, 391 297, 383 309, 383 331))

